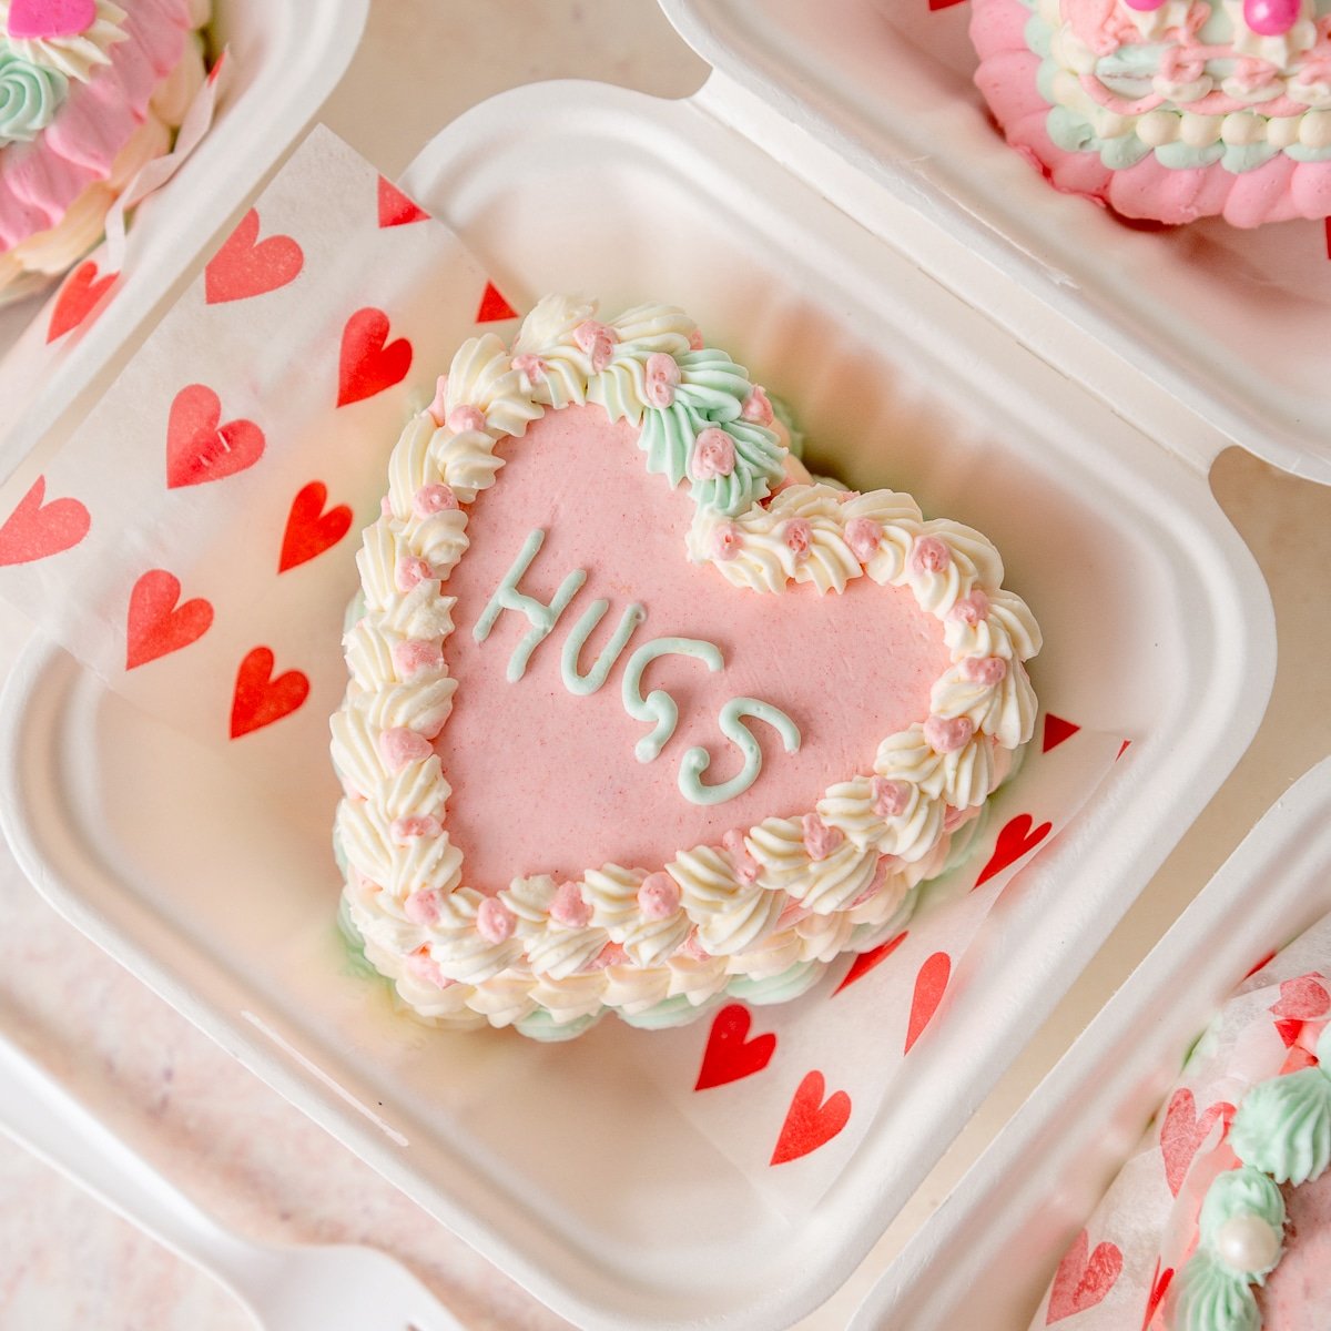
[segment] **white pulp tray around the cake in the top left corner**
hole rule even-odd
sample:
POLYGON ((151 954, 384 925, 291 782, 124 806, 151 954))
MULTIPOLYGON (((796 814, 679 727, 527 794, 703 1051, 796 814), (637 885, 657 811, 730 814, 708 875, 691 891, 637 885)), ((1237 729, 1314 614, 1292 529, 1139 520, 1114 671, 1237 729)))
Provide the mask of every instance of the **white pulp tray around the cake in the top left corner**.
POLYGON ((133 218, 124 277, 102 317, 59 355, 29 327, 49 291, 0 310, 0 482, 69 411, 105 390, 158 301, 301 136, 351 61, 370 0, 213 0, 210 32, 228 47, 217 118, 180 173, 133 218))

